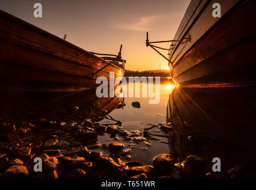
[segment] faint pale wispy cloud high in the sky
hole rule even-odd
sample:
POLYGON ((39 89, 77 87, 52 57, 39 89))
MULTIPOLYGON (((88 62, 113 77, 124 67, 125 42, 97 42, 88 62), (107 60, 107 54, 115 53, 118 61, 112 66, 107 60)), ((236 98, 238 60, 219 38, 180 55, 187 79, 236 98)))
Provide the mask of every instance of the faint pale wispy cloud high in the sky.
POLYGON ((118 24, 118 26, 113 26, 113 28, 122 30, 148 31, 154 21, 156 21, 159 17, 160 15, 141 17, 133 22, 118 24))

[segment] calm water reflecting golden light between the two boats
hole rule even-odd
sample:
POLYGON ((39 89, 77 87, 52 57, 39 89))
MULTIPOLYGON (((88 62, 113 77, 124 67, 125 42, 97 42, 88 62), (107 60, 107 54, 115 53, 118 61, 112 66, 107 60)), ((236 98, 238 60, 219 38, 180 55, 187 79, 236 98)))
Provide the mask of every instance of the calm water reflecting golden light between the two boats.
MULTIPOLYGON (((135 87, 135 83, 124 84, 124 87, 129 89, 129 85, 135 87)), ((146 84, 148 88, 155 88, 155 84, 146 84)), ((114 109, 110 115, 117 121, 122 122, 122 129, 128 132, 138 130, 141 132, 143 137, 143 131, 145 128, 149 128, 154 125, 166 123, 166 113, 167 113, 167 103, 171 91, 174 89, 175 85, 169 81, 163 81, 160 85, 160 102, 158 104, 149 104, 149 97, 124 97, 125 106, 123 109, 114 109), (132 102, 139 102, 141 104, 140 108, 132 106, 132 102)), ((142 88, 142 83, 141 83, 142 88)), ((108 119, 103 119, 100 121, 101 124, 114 123, 108 119)), ((109 134, 99 136, 98 143, 111 143, 118 142, 125 144, 125 148, 132 148, 130 156, 135 162, 141 162, 143 164, 152 164, 152 159, 161 153, 170 153, 168 147, 168 136, 160 128, 155 127, 149 130, 149 133, 154 137, 154 140, 146 139, 139 143, 129 142, 124 140, 123 137, 117 134, 119 140, 115 138, 110 138, 109 134), (130 145, 129 145, 130 144, 130 145), (131 145, 132 144, 132 145, 131 145)), ((109 152, 102 149, 103 153, 108 154, 109 152)), ((129 161, 124 159, 124 161, 129 161)))

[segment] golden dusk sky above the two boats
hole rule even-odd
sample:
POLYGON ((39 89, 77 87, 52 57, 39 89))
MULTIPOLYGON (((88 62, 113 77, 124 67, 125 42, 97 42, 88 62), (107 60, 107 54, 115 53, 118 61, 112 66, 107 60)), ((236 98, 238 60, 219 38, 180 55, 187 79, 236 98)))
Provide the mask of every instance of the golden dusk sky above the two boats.
MULTIPOLYGON (((0 9, 85 50, 116 54, 123 44, 126 69, 167 68, 167 61, 146 47, 149 40, 173 39, 189 0, 2 0, 0 9), (33 17, 40 2, 43 17, 33 17)), ((168 43, 161 45, 169 47, 168 43)), ((164 51, 167 55, 167 51, 164 51)))

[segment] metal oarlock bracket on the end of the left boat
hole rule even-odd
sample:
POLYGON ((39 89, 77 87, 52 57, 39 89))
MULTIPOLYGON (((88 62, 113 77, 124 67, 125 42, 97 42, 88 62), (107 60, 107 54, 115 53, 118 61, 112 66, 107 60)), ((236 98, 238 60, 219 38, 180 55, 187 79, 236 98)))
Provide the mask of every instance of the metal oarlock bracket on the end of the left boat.
POLYGON ((105 65, 101 69, 99 69, 98 71, 94 72, 92 74, 92 77, 94 77, 95 74, 97 74, 99 71, 102 71, 102 69, 106 68, 108 65, 113 64, 113 62, 115 62, 115 61, 121 62, 122 63, 122 69, 123 69, 124 68, 124 64, 126 63, 126 60, 121 59, 122 58, 121 57, 122 47, 123 47, 123 45, 120 46, 120 50, 118 52, 118 55, 90 52, 93 55, 107 55, 107 57, 103 56, 103 57, 100 57, 100 58, 104 59, 105 61, 111 61, 110 63, 108 63, 107 65, 105 65))

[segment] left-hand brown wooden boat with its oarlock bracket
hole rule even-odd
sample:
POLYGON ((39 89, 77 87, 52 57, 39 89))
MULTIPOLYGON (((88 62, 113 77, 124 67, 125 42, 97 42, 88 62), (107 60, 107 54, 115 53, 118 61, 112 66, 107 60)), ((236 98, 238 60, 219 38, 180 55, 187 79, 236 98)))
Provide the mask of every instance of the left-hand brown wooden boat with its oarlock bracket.
POLYGON ((85 90, 99 76, 124 75, 121 48, 96 55, 0 10, 1 90, 85 90))

